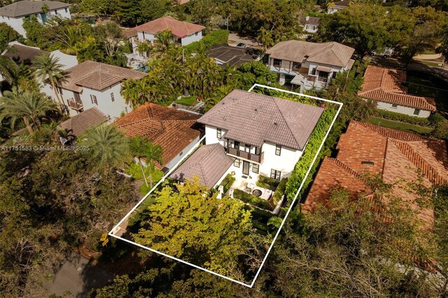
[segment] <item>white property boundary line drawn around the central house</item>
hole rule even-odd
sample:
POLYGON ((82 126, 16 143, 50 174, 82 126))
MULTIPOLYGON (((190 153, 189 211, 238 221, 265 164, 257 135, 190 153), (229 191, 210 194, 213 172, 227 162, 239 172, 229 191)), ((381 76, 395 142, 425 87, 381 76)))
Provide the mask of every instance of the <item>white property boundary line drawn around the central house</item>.
MULTIPOLYGON (((300 190, 302 190, 302 187, 303 187, 303 185, 304 185, 304 181, 307 180, 307 177, 308 177, 308 175, 309 175, 309 172, 311 171, 311 168, 313 167, 314 162, 316 162, 316 159, 317 159, 317 157, 318 157, 318 155, 319 155, 319 152, 321 152, 321 149, 322 149, 322 147, 323 147, 323 144, 325 143, 325 141, 326 141, 326 139, 327 139, 327 137, 328 137, 328 134, 330 134, 330 131, 331 131, 333 125, 335 124, 335 121, 336 121, 336 119, 337 119, 337 116, 339 115, 339 112, 341 111, 342 106, 343 106, 342 102, 339 102, 339 101, 332 101, 332 100, 330 100, 330 99, 322 99, 322 98, 320 98, 320 97, 313 97, 313 96, 311 96, 311 95, 301 94, 301 93, 292 92, 292 91, 288 91, 288 90, 281 90, 281 89, 279 89, 279 88, 269 87, 269 86, 266 86, 266 85, 260 85, 260 84, 254 84, 254 85, 251 87, 251 89, 248 90, 248 92, 251 92, 251 91, 253 90, 254 87, 262 87, 262 88, 266 88, 266 89, 270 89, 270 90, 276 90, 276 91, 280 91, 280 92, 286 92, 286 93, 288 93, 288 94, 298 95, 298 96, 300 96, 300 97, 308 97, 308 98, 311 98, 311 99, 317 99, 317 100, 321 100, 321 101, 326 101, 326 102, 330 102, 330 103, 332 103, 332 104, 338 104, 338 105, 339 105, 339 108, 337 109, 337 113, 336 113, 336 115, 335 115, 335 118, 333 118, 333 120, 332 120, 332 122, 331 122, 331 125, 330 125, 330 127, 328 128, 328 130, 327 130, 327 132, 326 132, 326 134, 325 134, 325 136, 324 136, 324 138, 323 138, 323 141, 322 141, 322 143, 321 143, 321 146, 319 146, 319 148, 318 148, 318 150, 317 150, 317 152, 316 152, 316 155, 314 156, 314 159, 313 159, 313 161, 311 162, 311 165, 309 166, 309 169, 308 169, 307 173, 305 174, 305 176, 304 176, 304 178, 303 178, 303 180, 302 180, 302 183, 300 184, 300 187, 299 187, 299 189, 297 190, 297 192, 296 192, 296 194, 295 194, 295 197, 294 197, 293 201, 290 203, 290 207, 288 208, 288 211, 286 212, 286 215, 285 215, 285 217, 283 218, 283 221, 281 222, 281 225, 280 225, 279 229, 277 230, 277 232, 276 232, 276 234, 275 234, 275 236, 274 236, 274 239, 272 240, 272 243, 271 243, 271 245, 269 246, 269 249, 267 250, 267 253, 266 253, 265 257, 263 258, 263 260, 262 260, 262 262, 261 262, 261 265, 260 265, 260 268, 258 268, 258 271, 257 271, 257 273, 255 274, 255 277, 253 278, 252 283, 251 283, 251 284, 248 284, 248 283, 242 283, 241 281, 236 281, 235 279, 233 279, 233 278, 229 278, 228 276, 223 276, 222 274, 218 274, 218 273, 216 273, 216 272, 214 272, 214 271, 210 271, 209 269, 205 269, 205 268, 203 268, 203 267, 197 266, 197 265, 192 264, 192 263, 190 263, 190 262, 183 261, 183 260, 181 260, 181 259, 178 259, 177 257, 173 257, 172 255, 167 255, 167 254, 165 254, 165 253, 161 253, 161 252, 158 251, 158 250, 153 250, 152 248, 148 248, 148 247, 146 247, 146 246, 142 246, 142 245, 139 244, 139 243, 132 242, 132 241, 130 241, 130 240, 124 239, 124 238, 122 238, 122 237, 120 237, 120 236, 116 236, 116 235, 113 234, 113 232, 116 231, 116 230, 118 229, 118 227, 119 227, 119 226, 120 226, 120 225, 121 225, 121 224, 122 224, 128 217, 129 217, 129 215, 131 215, 131 213, 134 212, 135 209, 137 209, 137 208, 140 206, 141 203, 143 203, 143 201, 146 199, 146 197, 148 197, 148 195, 151 194, 151 193, 152 193, 152 192, 153 192, 153 191, 160 185, 160 183, 162 183, 162 182, 167 178, 167 176, 169 176, 169 174, 172 173, 172 171, 174 171, 174 170, 177 168, 177 166, 179 166, 179 164, 181 164, 181 162, 183 162, 183 159, 185 159, 185 157, 184 157, 183 159, 181 159, 181 161, 179 161, 175 166, 173 166, 172 169, 171 169, 170 171, 168 171, 168 173, 166 173, 165 176, 163 176, 162 179, 161 179, 156 185, 154 185, 154 187, 153 187, 153 188, 152 188, 152 189, 151 189, 151 190, 150 190, 150 191, 143 197, 143 199, 141 199, 141 200, 137 203, 137 205, 135 205, 134 208, 132 208, 131 211, 129 211, 129 212, 125 215, 125 217, 124 217, 122 220, 120 220, 120 222, 118 222, 118 224, 117 224, 115 227, 113 227, 113 229, 111 229, 111 232, 109 232, 109 236, 112 236, 112 237, 114 237, 114 238, 116 238, 116 239, 123 240, 123 241, 125 241, 125 242, 127 242, 127 243, 131 243, 131 244, 133 244, 134 246, 138 246, 139 248, 144 248, 144 249, 146 249, 146 250, 150 250, 150 251, 152 251, 153 253, 158 253, 159 255, 163 255, 164 257, 169 257, 170 259, 176 260, 176 261, 181 262, 181 263, 183 263, 183 264, 190 265, 191 267, 195 267, 196 269, 200 269, 200 270, 202 270, 202 271, 206 271, 206 272, 208 272, 209 274, 214 274, 214 275, 219 276, 219 277, 221 277, 221 278, 225 278, 225 279, 227 279, 228 281, 233 281, 234 283, 238 283, 239 285, 244 285, 244 286, 246 286, 246 287, 248 287, 248 288, 253 288, 253 285, 255 284, 255 281, 257 280, 258 275, 260 275, 260 271, 261 271, 262 267, 264 266, 264 264, 265 264, 265 262, 266 262, 266 260, 267 260, 267 257, 269 256, 269 253, 270 253, 271 250, 272 250, 272 247, 274 247, 274 243, 275 243, 277 237, 279 236, 279 234, 280 234, 280 232, 281 232, 281 228, 282 228, 283 225, 285 224, 285 222, 286 222, 286 218, 288 218, 288 215, 289 215, 290 211, 292 210, 292 208, 293 208, 293 206, 294 206, 294 203, 295 203, 295 201, 297 200, 297 197, 299 196, 300 190)), ((186 156, 186 157, 189 157, 189 155, 191 154, 191 152, 193 152, 198 146, 200 146, 200 143, 201 143, 204 139, 205 139, 205 136, 203 136, 202 139, 200 139, 200 141, 198 141, 197 144, 196 144, 192 149, 190 149, 190 150, 188 151, 188 153, 187 153, 185 156, 186 156)))

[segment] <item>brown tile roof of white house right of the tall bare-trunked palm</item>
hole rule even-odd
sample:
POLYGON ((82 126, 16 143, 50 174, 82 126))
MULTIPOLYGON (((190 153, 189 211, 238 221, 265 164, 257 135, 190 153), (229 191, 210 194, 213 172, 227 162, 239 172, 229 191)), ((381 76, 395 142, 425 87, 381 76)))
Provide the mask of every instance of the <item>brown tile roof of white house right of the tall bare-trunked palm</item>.
POLYGON ((69 78, 59 85, 64 89, 75 92, 81 92, 82 87, 104 90, 126 79, 139 80, 147 76, 146 73, 141 71, 93 61, 85 61, 67 71, 69 72, 69 78))

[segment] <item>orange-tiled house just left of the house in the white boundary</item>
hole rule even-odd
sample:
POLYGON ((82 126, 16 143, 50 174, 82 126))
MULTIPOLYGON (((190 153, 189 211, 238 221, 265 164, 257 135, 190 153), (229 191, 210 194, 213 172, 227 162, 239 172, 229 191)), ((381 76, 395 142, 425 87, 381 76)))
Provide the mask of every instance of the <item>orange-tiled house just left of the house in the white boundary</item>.
POLYGON ((198 118, 198 115, 147 103, 117 119, 113 125, 127 137, 148 137, 160 145, 163 164, 156 163, 156 167, 167 172, 200 140, 202 127, 196 123, 198 118))

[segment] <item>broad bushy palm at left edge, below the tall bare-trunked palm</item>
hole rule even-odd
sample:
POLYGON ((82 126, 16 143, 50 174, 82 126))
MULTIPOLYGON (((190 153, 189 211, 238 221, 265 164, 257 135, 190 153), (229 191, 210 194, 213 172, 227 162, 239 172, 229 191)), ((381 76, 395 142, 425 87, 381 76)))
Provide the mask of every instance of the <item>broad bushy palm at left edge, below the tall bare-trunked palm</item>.
POLYGON ((22 119, 29 134, 34 134, 33 126, 41 129, 41 120, 48 112, 57 110, 55 102, 42 93, 24 91, 18 87, 5 92, 0 99, 0 107, 0 121, 10 118, 11 128, 14 128, 15 122, 22 119))

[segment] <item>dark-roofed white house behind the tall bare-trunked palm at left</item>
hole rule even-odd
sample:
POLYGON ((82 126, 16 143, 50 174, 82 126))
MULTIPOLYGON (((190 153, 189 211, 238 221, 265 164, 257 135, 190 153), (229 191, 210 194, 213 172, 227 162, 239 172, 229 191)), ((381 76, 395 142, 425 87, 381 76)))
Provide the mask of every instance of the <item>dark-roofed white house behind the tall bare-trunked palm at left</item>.
POLYGON ((35 57, 46 54, 59 58, 59 64, 62 64, 63 69, 69 69, 78 65, 78 59, 76 59, 76 56, 64 54, 60 50, 47 52, 36 47, 23 45, 18 41, 12 41, 8 45, 11 50, 5 50, 1 55, 13 59, 17 64, 23 63, 31 66, 35 57))

